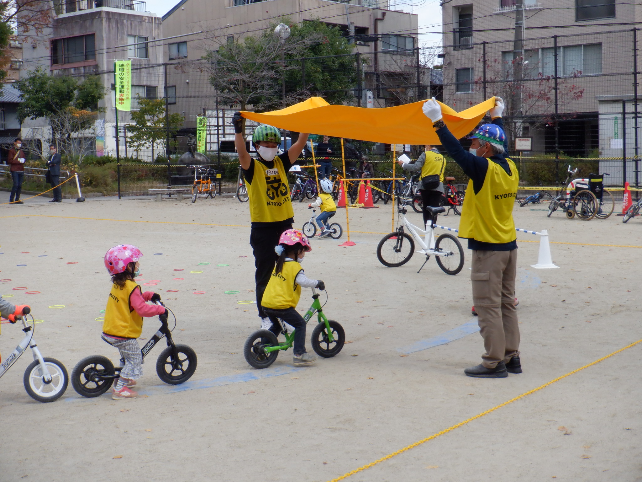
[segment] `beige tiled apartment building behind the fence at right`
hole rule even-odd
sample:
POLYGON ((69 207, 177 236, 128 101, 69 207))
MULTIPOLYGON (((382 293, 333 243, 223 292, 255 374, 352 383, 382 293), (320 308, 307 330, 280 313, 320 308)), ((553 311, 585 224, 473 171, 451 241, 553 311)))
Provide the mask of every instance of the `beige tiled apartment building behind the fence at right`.
MULTIPOLYGON (((560 151, 588 156, 599 149, 603 157, 621 156, 621 127, 618 134, 612 112, 621 112, 622 98, 632 99, 634 93, 632 28, 642 21, 642 6, 620 0, 523 1, 526 90, 521 134, 532 136, 534 152, 555 152, 551 119, 557 86, 560 151)), ((484 97, 507 96, 515 4, 515 0, 443 4, 444 102, 459 110, 484 97)), ((633 103, 627 107, 633 108, 633 103)), ((633 130, 628 135, 632 154, 633 130)))

